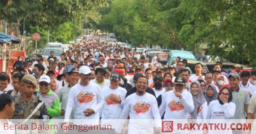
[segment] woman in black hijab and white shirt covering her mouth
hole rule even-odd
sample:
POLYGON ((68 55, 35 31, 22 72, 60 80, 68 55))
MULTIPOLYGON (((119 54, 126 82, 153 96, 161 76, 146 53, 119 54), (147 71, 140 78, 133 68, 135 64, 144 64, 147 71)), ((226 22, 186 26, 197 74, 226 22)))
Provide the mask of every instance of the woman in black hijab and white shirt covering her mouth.
MULTIPOLYGON (((208 105, 206 119, 211 119, 210 123, 221 121, 220 119, 232 119, 236 111, 236 104, 232 103, 232 91, 228 87, 221 88, 218 100, 213 100, 208 105)), ((224 120, 225 123, 230 124, 231 120, 224 120)), ((228 126, 228 125, 227 125, 228 126)), ((232 134, 232 130, 212 130, 208 134, 232 134)))

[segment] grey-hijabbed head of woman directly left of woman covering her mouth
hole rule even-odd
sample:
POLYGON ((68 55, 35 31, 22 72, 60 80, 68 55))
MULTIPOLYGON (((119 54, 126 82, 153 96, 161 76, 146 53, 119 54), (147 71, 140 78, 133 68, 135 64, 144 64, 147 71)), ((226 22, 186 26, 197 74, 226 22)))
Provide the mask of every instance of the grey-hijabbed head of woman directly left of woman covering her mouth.
POLYGON ((218 99, 218 93, 217 93, 217 90, 216 90, 216 88, 213 84, 210 84, 206 87, 204 97, 207 100, 207 105, 209 105, 209 103, 212 100, 217 100, 218 99))

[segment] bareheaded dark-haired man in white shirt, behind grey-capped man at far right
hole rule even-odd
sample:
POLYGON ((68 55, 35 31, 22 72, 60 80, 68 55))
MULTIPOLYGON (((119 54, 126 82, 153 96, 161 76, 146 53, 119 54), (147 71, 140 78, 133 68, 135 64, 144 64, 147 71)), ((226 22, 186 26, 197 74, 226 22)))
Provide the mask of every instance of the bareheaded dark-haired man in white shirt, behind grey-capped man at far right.
POLYGON ((249 71, 242 71, 241 72, 241 81, 239 82, 239 88, 245 89, 248 91, 250 97, 252 96, 253 92, 256 88, 249 82, 250 80, 250 72, 249 71))

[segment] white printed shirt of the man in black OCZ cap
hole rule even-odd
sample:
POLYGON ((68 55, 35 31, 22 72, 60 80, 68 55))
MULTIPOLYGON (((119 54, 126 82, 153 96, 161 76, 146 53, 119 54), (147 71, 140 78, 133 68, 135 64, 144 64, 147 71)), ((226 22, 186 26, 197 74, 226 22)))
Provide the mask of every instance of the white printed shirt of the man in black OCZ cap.
POLYGON ((118 87, 116 89, 111 89, 109 87, 102 88, 102 96, 104 99, 104 104, 102 107, 102 120, 101 124, 110 125, 112 128, 116 128, 117 122, 105 119, 119 119, 122 114, 122 108, 125 101, 125 95, 127 93, 125 88, 118 87), (109 99, 111 94, 116 94, 121 99, 121 104, 115 100, 109 99))

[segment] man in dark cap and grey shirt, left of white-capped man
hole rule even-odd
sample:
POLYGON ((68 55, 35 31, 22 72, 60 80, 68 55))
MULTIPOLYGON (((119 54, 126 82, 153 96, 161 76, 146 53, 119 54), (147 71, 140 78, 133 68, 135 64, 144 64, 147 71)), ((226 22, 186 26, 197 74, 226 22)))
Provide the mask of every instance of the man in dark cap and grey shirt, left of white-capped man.
MULTIPOLYGON (((63 88, 61 88, 58 91, 58 97, 59 97, 60 102, 61 102, 61 116, 62 116, 61 119, 64 119, 65 108, 67 107, 67 99, 68 99, 68 94, 70 92, 70 89, 73 86, 75 86, 79 81, 78 68, 72 68, 71 71, 68 72, 68 74, 70 76, 69 85, 64 86, 63 88)), ((74 119, 75 110, 76 110, 76 107, 75 107, 75 105, 73 105, 71 115, 70 115, 70 119, 74 119)))

